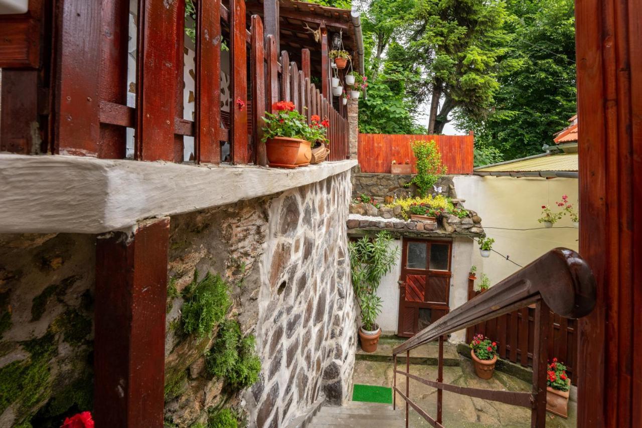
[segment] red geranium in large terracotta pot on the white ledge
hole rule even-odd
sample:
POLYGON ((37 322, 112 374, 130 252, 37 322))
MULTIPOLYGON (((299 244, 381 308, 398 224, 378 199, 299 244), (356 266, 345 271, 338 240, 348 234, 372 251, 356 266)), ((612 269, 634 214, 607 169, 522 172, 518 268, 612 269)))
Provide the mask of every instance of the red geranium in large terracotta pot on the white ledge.
POLYGON ((270 166, 297 168, 309 165, 312 146, 319 141, 327 141, 327 126, 319 123, 308 125, 307 118, 296 111, 294 103, 289 101, 276 102, 272 109, 275 113, 265 112, 263 127, 263 141, 270 166))

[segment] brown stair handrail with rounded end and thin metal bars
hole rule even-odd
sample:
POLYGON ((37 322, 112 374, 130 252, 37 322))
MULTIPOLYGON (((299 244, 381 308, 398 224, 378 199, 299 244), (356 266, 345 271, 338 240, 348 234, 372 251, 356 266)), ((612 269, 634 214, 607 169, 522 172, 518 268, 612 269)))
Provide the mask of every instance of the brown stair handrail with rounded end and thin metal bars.
POLYGON ((433 427, 442 427, 442 394, 449 391, 469 397, 483 398, 531 409, 531 427, 546 424, 546 365, 550 311, 566 318, 584 317, 593 310, 596 285, 593 273, 575 251, 556 248, 544 254, 523 269, 469 300, 421 330, 392 351, 394 361, 394 399, 397 394, 406 402, 406 427, 409 406, 415 409, 433 427), (466 388, 443 383, 444 338, 447 334, 473 326, 487 319, 507 314, 517 308, 535 303, 535 351, 533 353, 533 391, 493 391, 466 388), (438 339, 439 359, 437 380, 428 380, 410 374, 410 351, 417 346, 438 339), (397 355, 406 353, 406 371, 397 370, 397 355), (406 376, 406 393, 397 388, 397 374, 406 376), (410 400, 410 379, 437 388, 437 415, 432 418, 410 400))

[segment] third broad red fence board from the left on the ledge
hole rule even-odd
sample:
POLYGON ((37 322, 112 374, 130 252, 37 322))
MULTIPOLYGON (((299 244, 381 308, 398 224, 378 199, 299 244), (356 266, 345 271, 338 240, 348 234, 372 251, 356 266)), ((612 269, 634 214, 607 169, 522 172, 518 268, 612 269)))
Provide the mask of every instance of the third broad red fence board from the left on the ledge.
POLYGON ((201 1, 196 16, 197 163, 221 161, 221 0, 201 1))

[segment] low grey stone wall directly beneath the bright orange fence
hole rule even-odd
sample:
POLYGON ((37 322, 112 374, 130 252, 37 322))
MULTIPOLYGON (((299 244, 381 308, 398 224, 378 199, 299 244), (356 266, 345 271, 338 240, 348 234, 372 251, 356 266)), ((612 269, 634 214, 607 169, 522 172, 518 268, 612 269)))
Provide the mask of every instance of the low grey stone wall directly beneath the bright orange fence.
MULTIPOLYGON (((376 174, 369 172, 352 173, 352 197, 358 197, 362 193, 377 199, 383 199, 386 195, 397 195, 397 198, 417 195, 417 186, 408 185, 413 175, 402 174, 376 174)), ((456 198, 453 175, 444 175, 436 184, 441 188, 440 195, 456 198)))

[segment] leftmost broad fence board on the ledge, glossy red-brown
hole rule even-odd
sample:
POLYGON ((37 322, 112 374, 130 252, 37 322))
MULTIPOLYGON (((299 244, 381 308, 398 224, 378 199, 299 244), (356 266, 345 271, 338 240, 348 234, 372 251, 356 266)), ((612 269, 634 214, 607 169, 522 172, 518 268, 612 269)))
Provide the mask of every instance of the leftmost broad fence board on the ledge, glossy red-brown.
POLYGON ((100 152, 101 1, 65 0, 56 44, 55 152, 100 152))

